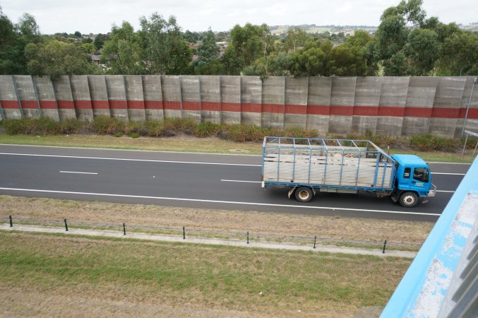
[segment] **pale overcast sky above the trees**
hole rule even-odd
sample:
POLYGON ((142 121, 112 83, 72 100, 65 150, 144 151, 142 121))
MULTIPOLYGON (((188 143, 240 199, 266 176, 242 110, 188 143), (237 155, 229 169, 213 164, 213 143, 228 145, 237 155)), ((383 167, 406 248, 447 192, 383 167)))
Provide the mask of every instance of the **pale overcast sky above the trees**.
MULTIPOLYGON (((227 31, 246 23, 268 25, 371 25, 380 23, 383 11, 400 0, 0 0, 8 18, 18 22, 30 13, 40 33, 108 33, 112 25, 128 21, 135 30, 139 18, 154 12, 176 16, 182 30, 227 31)), ((427 17, 443 23, 478 22, 475 0, 424 0, 427 17)))

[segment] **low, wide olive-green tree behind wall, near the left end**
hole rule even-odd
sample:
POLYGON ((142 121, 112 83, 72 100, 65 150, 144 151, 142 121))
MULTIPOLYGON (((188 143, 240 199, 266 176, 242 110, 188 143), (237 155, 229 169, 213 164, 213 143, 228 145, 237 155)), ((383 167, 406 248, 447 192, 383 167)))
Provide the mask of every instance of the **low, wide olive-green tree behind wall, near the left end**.
POLYGON ((61 75, 92 74, 98 70, 80 46, 58 40, 29 43, 25 56, 32 76, 49 76, 52 81, 61 75))

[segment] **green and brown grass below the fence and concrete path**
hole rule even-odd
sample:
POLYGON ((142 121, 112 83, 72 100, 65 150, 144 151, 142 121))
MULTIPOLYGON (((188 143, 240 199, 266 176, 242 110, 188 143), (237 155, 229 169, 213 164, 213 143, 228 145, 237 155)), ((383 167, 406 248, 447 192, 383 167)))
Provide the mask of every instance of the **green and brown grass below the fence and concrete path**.
MULTIPOLYGON (((66 316, 76 312, 79 298, 101 299, 102 306, 127 302, 138 312, 160 305, 199 316, 215 310, 237 317, 299 311, 306 317, 352 317, 362 307, 385 305, 410 265, 410 259, 400 258, 18 232, 0 232, 0 240, 0 295, 9 287, 27 296, 36 290, 44 304, 61 295, 66 316)), ((29 303, 26 297, 6 302, 6 312, 48 315, 42 305, 29 303)), ((98 308, 82 314, 92 310, 98 308)), ((102 315, 109 314, 114 312, 104 308, 102 315)))

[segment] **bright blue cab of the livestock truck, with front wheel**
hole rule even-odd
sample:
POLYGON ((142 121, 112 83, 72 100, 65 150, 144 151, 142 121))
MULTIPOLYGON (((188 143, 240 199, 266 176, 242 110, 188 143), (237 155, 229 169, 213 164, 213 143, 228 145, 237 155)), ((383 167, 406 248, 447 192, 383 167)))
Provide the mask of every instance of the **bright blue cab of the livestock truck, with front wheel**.
POLYGON ((399 201, 401 206, 415 206, 419 198, 428 201, 429 196, 435 196, 436 187, 431 183, 429 165, 417 155, 393 155, 395 160, 395 189, 393 201, 399 201))

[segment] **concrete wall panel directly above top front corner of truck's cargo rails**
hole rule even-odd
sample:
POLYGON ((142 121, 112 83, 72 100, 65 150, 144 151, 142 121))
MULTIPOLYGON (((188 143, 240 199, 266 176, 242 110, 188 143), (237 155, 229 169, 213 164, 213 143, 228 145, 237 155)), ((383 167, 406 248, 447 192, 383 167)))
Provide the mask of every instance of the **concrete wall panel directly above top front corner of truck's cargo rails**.
POLYGON ((355 83, 352 131, 375 134, 380 102, 381 77, 358 77, 355 83))

